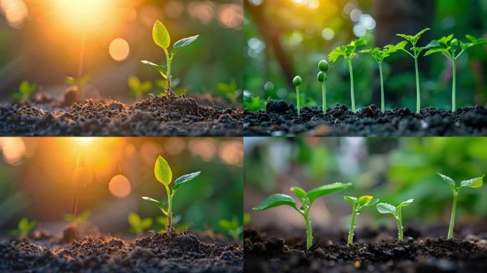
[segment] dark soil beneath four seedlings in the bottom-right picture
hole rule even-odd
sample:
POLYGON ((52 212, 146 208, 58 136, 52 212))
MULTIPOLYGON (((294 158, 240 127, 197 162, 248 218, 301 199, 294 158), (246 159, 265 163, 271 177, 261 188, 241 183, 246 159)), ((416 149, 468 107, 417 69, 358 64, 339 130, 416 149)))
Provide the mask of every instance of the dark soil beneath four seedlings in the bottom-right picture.
POLYGON ((318 235, 310 250, 301 233, 288 234, 286 239, 268 236, 273 233, 244 232, 244 272, 433 273, 486 272, 487 268, 487 233, 446 240, 423 237, 421 231, 407 228, 399 242, 390 230, 362 230, 351 246, 346 245, 345 233, 318 235))

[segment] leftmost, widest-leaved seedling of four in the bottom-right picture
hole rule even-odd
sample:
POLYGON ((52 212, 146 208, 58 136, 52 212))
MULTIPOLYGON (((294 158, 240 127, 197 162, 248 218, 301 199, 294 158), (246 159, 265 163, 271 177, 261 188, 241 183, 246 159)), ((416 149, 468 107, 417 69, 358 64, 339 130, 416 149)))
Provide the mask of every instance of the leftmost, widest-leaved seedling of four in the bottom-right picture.
POLYGON ((287 196, 286 194, 276 193, 272 196, 268 196, 259 205, 253 207, 253 210, 267 210, 268 208, 277 207, 279 205, 289 205, 294 208, 301 216, 303 216, 306 223, 306 249, 309 250, 313 245, 313 230, 311 228, 310 209, 313 202, 321 197, 330 193, 337 193, 343 191, 346 188, 352 186, 352 183, 332 183, 306 192, 303 188, 292 187, 290 191, 293 191, 295 196, 301 202, 300 208, 296 205, 295 200, 287 196))

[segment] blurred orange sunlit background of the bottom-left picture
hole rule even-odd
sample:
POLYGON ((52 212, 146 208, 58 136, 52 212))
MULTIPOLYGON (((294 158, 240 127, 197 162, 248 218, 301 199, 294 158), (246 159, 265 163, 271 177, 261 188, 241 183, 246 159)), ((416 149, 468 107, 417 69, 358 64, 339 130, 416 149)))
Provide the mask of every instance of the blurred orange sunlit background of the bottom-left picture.
MULTIPOLYGON (((9 235, 26 217, 58 234, 71 213, 73 173, 78 155, 85 169, 78 213, 91 210, 90 221, 104 234, 127 236, 127 215, 161 216, 157 206, 142 200, 167 200, 154 176, 157 156, 167 159, 173 178, 201 171, 179 188, 174 215, 189 230, 225 233, 219 220, 236 217, 242 225, 243 142, 241 138, 0 138, 0 235, 9 235), (122 174, 130 185, 112 185, 122 174)), ((159 230, 152 226, 148 230, 159 230)))

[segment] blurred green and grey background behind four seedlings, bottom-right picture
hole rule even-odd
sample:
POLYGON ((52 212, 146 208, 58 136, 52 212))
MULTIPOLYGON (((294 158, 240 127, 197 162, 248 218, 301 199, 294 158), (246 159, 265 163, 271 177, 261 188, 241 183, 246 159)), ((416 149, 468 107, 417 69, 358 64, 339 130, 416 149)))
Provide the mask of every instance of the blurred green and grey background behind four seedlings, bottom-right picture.
MULTIPOLYGON (((251 208, 273 193, 293 196, 291 186, 306 191, 328 183, 353 183, 341 193, 319 198, 311 209, 313 226, 347 230, 350 205, 342 196, 372 195, 404 208, 404 223, 447 225, 453 196, 436 172, 455 181, 483 176, 487 169, 487 139, 476 137, 404 138, 245 138, 244 211, 253 228, 304 228, 303 218, 286 206, 264 211, 251 208)), ((487 186, 463 188, 456 222, 485 218, 487 186)), ((375 206, 362 211, 358 228, 395 222, 375 206)), ((446 229, 444 230, 446 232, 446 229)))

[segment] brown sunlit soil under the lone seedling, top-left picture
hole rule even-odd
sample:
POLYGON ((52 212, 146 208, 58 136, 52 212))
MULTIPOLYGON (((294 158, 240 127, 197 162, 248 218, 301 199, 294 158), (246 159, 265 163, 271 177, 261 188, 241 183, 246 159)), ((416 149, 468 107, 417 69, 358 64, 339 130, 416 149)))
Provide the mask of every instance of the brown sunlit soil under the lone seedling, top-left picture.
POLYGON ((149 97, 132 105, 64 101, 37 95, 25 104, 0 105, 3 136, 229 136, 242 135, 238 108, 200 105, 185 95, 149 97), (68 104, 69 105, 69 104, 68 104))

